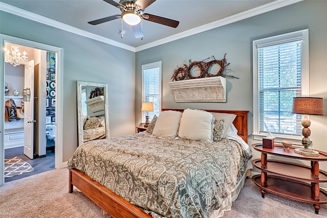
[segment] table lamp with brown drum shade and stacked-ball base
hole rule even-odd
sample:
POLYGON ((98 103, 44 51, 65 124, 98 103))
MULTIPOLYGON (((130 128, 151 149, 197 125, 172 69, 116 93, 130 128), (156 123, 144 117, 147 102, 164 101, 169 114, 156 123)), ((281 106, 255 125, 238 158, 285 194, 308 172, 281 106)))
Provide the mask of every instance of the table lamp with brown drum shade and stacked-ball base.
POLYGON ((309 136, 311 135, 311 130, 309 126, 311 121, 308 115, 322 115, 322 98, 311 98, 311 97, 295 97, 293 98, 292 113, 303 114, 301 120, 302 128, 302 145, 303 148, 295 148, 294 151, 297 154, 318 156, 319 152, 315 151, 309 146, 312 144, 309 136))

